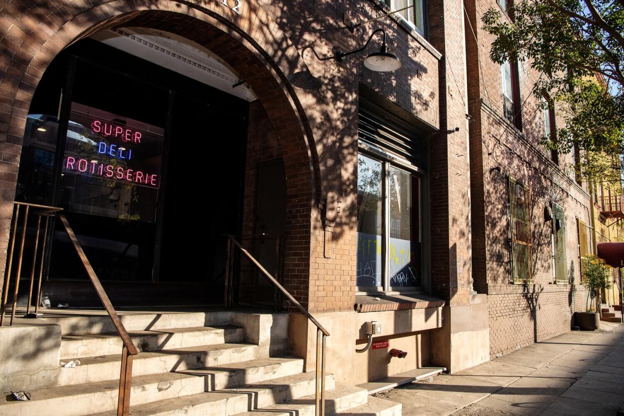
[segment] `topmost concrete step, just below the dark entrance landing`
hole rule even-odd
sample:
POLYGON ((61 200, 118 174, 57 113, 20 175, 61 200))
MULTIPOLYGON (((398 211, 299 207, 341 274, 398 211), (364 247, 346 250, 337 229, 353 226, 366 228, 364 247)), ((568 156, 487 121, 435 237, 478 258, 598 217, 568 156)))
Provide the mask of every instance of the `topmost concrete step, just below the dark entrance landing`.
MULTIPOLYGON (((227 325, 233 312, 119 312, 126 331, 159 331, 169 328, 187 328, 227 325)), ((61 326, 66 335, 106 334, 115 332, 108 315, 85 311, 82 315, 45 317, 46 321, 61 326)))

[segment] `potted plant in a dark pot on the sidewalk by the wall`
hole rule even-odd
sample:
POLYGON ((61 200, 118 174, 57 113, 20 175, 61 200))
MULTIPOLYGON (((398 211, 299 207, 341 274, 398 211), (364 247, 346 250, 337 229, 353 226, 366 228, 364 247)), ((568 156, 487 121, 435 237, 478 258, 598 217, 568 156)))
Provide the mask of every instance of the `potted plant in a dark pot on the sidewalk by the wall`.
POLYGON ((595 331, 600 327, 600 304, 602 293, 612 286, 609 266, 603 259, 587 256, 583 262, 583 283, 587 288, 587 312, 575 312, 575 322, 583 331, 595 331), (590 301, 591 297, 591 301, 590 301))

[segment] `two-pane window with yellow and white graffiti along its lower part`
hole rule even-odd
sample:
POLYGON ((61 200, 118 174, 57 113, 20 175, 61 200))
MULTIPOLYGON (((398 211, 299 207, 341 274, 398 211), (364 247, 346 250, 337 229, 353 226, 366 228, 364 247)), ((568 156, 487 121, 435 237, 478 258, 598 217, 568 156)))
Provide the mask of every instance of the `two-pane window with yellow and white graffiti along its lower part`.
POLYGON ((356 284, 379 291, 421 286, 419 178, 358 155, 356 284))

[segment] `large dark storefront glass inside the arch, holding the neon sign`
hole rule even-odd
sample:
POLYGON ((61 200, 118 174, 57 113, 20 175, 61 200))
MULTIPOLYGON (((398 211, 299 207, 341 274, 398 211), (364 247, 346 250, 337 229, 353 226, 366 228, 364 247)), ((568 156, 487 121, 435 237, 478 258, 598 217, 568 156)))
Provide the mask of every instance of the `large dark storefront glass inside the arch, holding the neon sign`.
MULTIPOLYGON (((29 113, 16 198, 61 206, 100 280, 222 284, 248 102, 87 39, 52 62, 29 113)), ((60 221, 49 247, 49 280, 87 278, 60 221)))

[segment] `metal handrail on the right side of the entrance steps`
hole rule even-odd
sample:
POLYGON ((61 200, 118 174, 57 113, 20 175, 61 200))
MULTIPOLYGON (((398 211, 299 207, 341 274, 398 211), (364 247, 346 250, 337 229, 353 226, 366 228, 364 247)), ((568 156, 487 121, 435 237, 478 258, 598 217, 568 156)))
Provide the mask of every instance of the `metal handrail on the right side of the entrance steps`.
POLYGON ((241 246, 236 238, 232 235, 228 235, 228 261, 226 266, 225 273, 225 309, 230 309, 232 307, 232 298, 233 298, 233 249, 232 244, 238 249, 240 249, 241 253, 245 254, 245 256, 250 259, 251 263, 253 263, 256 268, 258 268, 261 273, 265 275, 267 279, 271 283, 275 285, 276 288, 291 301, 299 311, 305 315, 310 322, 316 326, 316 388, 314 390, 314 409, 316 411, 316 416, 324 416, 325 414, 325 337, 329 336, 329 331, 325 329, 317 320, 312 316, 310 312, 308 312, 301 304, 293 297, 281 284, 271 276, 271 273, 266 271, 266 269, 260 264, 260 262, 249 253, 243 246, 241 246))

